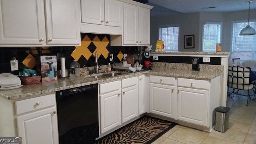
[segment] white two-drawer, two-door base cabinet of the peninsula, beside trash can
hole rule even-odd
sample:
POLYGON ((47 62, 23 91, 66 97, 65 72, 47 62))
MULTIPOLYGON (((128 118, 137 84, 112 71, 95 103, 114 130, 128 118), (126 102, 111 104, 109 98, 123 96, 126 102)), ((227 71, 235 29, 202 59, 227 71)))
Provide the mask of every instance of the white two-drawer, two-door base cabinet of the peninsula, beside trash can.
POLYGON ((150 76, 150 113, 211 131, 220 106, 220 76, 211 80, 150 76))

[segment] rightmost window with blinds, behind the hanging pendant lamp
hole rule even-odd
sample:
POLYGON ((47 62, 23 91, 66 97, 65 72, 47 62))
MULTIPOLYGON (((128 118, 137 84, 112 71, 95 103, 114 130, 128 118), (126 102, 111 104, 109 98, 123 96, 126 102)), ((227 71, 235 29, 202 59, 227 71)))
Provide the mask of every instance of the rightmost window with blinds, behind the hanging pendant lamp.
MULTIPOLYGON (((248 25, 248 22, 237 22, 233 24, 232 54, 231 58, 240 58, 241 62, 256 60, 256 35, 240 36, 240 31, 248 25)), ((249 25, 256 29, 256 22, 249 25)))

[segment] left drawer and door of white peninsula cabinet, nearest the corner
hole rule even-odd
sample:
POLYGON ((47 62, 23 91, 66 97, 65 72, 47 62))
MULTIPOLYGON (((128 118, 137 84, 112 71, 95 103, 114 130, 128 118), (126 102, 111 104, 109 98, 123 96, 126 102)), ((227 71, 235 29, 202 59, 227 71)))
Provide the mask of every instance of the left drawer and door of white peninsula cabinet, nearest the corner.
POLYGON ((150 113, 176 118, 175 78, 150 76, 150 113))

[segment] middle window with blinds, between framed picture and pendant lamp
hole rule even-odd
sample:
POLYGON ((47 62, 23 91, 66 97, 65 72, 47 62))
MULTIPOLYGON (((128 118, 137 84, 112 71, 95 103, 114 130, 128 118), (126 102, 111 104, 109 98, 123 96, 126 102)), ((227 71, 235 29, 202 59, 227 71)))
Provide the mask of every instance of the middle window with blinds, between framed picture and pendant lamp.
POLYGON ((216 52, 216 44, 221 43, 220 23, 206 23, 203 30, 203 52, 216 52))

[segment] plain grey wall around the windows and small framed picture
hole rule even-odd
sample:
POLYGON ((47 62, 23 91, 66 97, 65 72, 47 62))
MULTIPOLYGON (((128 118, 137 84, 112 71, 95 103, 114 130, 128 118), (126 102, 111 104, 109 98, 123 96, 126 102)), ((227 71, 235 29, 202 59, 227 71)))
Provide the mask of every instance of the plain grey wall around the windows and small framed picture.
MULTIPOLYGON (((204 22, 222 22, 222 51, 230 52, 232 22, 248 20, 248 10, 237 12, 208 12, 193 14, 170 14, 151 16, 150 44, 153 48, 158 40, 158 26, 180 24, 178 51, 202 51, 202 28, 204 22), (195 35, 195 48, 184 49, 184 35, 195 35)), ((250 10, 250 21, 256 20, 256 10, 250 10)))

